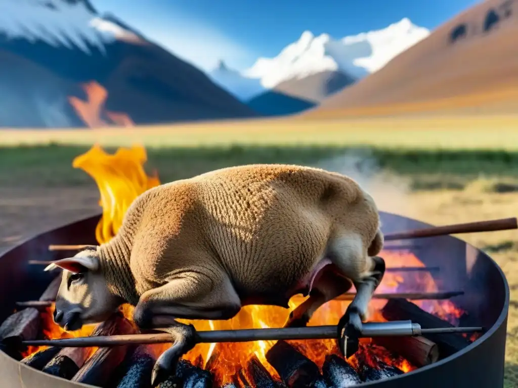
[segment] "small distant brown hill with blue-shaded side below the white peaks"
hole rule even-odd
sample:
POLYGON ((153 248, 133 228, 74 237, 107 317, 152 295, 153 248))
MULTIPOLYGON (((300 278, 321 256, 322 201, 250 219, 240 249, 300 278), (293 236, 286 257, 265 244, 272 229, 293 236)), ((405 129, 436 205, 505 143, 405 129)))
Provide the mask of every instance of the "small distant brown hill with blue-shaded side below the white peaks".
POLYGON ((327 70, 301 79, 294 78, 281 82, 274 89, 289 96, 321 102, 355 81, 356 79, 349 74, 327 70))

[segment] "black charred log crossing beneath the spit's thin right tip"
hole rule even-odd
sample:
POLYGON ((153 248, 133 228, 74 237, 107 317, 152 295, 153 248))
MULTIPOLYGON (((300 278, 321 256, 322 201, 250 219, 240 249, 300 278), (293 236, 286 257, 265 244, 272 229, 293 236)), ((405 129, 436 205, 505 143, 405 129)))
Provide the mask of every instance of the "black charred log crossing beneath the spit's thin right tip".
MULTIPOLYGON (((381 314, 388 321, 409 319, 414 323, 419 323, 422 329, 454 327, 451 323, 429 314, 405 299, 391 299, 385 304, 381 314)), ((437 344, 441 359, 464 349, 470 344, 467 338, 458 333, 423 334, 423 337, 437 344)))

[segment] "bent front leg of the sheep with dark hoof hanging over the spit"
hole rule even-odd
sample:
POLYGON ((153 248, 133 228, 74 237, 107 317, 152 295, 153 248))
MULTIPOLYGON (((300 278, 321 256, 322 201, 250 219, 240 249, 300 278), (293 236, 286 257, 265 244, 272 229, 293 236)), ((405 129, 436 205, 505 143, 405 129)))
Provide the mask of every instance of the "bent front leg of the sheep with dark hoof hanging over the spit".
POLYGON ((216 283, 213 276, 194 272, 182 274, 140 297, 134 311, 137 325, 145 330, 167 332, 174 338, 173 345, 156 360, 153 386, 174 375, 181 356, 196 345, 194 326, 180 323, 176 318, 230 319, 240 310, 232 283, 226 278, 220 280, 216 283))

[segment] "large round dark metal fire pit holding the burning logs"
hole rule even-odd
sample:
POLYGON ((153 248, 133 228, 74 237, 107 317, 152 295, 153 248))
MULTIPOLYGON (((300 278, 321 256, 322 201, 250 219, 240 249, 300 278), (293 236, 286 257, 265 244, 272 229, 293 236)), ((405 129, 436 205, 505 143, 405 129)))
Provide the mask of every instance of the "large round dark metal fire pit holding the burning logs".
MULTIPOLYGON (((426 228, 423 222, 382 213, 383 232, 426 228)), ((42 233, 0 256, 0 322, 15 309, 16 301, 37 300, 55 274, 42 271, 29 260, 56 260, 66 252, 49 251, 50 244, 96 244, 95 226, 99 216, 83 219, 42 233)), ((416 238, 405 248, 432 272, 441 285, 464 290, 451 300, 468 311, 473 322, 486 332, 471 345, 435 364, 385 380, 359 384, 379 388, 496 388, 503 385, 509 287, 498 265, 484 252, 452 236, 416 238)), ((390 266, 390 262, 387 262, 390 266)), ((28 367, 0 351, 1 386, 9 388, 69 388, 90 386, 53 377, 28 367)))

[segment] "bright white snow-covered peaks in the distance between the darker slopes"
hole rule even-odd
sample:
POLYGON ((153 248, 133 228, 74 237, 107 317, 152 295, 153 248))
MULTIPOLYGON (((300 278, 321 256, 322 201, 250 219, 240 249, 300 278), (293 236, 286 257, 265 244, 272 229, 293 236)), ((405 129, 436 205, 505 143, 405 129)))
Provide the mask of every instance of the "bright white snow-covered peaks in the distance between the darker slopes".
POLYGON ((429 33, 427 28, 414 25, 408 18, 377 31, 341 39, 333 39, 327 34, 314 36, 305 31, 274 58, 258 58, 252 67, 240 73, 226 69, 232 72, 232 77, 227 77, 222 69, 215 69, 209 75, 238 96, 240 94, 235 91, 242 84, 252 84, 251 80, 271 89, 285 81, 329 71, 360 79, 382 68, 429 33), (225 83, 227 79, 232 82, 225 83))

